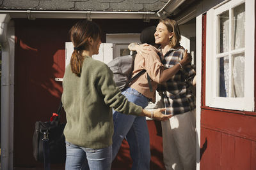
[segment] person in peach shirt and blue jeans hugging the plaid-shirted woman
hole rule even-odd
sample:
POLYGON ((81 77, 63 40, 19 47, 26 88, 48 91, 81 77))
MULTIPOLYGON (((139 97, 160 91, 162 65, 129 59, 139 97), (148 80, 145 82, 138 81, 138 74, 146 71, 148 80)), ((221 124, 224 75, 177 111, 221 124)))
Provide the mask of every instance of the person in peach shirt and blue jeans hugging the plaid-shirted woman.
MULTIPOLYGON (((180 60, 170 69, 164 69, 164 65, 161 63, 158 50, 156 47, 154 32, 155 26, 147 27, 143 29, 140 35, 141 43, 148 43, 150 51, 148 53, 137 53, 134 60, 134 71, 132 76, 140 73, 141 70, 145 70, 139 78, 132 81, 127 89, 123 90, 123 94, 127 99, 135 104, 138 104, 142 108, 148 106, 148 101, 155 102, 155 94, 157 84, 164 83, 172 78, 172 76, 180 71, 181 66, 186 66, 191 62, 191 55, 184 54, 184 59, 180 60), (148 78, 152 85, 148 84, 148 78)), ((135 46, 136 44, 133 44, 135 46)), ((132 44, 129 45, 132 50, 132 44)), ((147 120, 145 117, 136 117, 134 115, 124 115, 113 111, 114 120, 114 134, 113 134, 113 159, 118 152, 123 139, 126 137, 129 143, 130 155, 132 158, 132 170, 133 169, 150 169, 150 139, 147 127, 147 120)))

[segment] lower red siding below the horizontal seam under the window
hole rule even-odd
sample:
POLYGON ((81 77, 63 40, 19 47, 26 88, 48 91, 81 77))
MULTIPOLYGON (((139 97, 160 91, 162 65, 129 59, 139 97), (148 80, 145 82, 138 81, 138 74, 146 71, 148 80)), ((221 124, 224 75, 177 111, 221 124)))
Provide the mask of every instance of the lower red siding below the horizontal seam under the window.
POLYGON ((255 141, 202 127, 201 144, 205 141, 200 169, 255 169, 255 141))

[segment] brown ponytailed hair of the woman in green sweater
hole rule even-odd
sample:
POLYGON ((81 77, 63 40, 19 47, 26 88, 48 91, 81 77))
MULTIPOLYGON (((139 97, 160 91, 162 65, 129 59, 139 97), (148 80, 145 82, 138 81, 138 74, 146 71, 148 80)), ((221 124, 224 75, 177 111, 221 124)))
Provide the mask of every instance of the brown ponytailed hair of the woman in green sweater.
POLYGON ((74 52, 70 59, 72 73, 80 76, 83 66, 83 50, 88 50, 88 39, 96 40, 101 34, 100 27, 95 22, 79 20, 70 29, 70 39, 74 45, 74 52))

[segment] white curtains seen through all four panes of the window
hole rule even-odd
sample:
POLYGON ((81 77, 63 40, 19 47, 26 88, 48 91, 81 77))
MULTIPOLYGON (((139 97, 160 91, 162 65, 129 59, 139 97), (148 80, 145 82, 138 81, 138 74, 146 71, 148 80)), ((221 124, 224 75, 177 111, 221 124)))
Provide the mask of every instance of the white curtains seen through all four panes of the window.
MULTIPOLYGON (((233 8, 232 17, 232 50, 244 48, 245 37, 245 6, 244 3, 233 8)), ((220 15, 220 52, 228 52, 229 13, 220 15)), ((232 69, 228 57, 220 59, 220 97, 244 97, 244 52, 232 55, 232 69), (221 63, 223 62, 223 63, 221 63), (223 68, 221 68, 223 67, 223 68), (232 70, 232 88, 229 80, 232 70), (223 75, 221 75, 221 72, 223 75), (221 80, 224 79, 224 80, 221 80)))

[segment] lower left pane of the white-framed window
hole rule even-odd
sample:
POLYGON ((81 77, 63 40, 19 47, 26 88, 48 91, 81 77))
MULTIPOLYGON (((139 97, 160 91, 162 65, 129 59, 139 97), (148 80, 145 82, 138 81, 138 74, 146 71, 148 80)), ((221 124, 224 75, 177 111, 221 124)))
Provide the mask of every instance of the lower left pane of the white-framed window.
POLYGON ((228 97, 230 96, 228 91, 229 91, 229 60, 228 56, 225 57, 220 57, 218 59, 218 64, 219 64, 219 73, 218 73, 218 79, 219 79, 219 89, 217 96, 218 97, 228 97))

